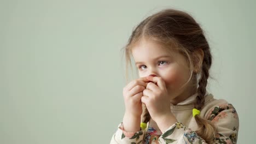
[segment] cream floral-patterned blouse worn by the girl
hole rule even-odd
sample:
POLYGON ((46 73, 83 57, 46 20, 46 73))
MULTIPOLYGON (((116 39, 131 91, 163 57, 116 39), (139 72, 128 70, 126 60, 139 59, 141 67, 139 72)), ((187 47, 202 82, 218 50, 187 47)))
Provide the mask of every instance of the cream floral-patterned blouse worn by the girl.
MULTIPOLYGON (((211 106, 206 112, 200 113, 214 123, 218 134, 215 135, 211 143, 236 143, 238 134, 238 115, 229 103, 223 103, 211 106)), ((196 129, 195 129, 196 130, 196 129)), ((117 132, 112 136, 110 144, 114 143, 206 143, 195 130, 187 128, 182 122, 178 121, 171 125, 164 133, 156 128, 150 127, 136 133, 127 133, 123 130, 122 124, 119 124, 117 132)))

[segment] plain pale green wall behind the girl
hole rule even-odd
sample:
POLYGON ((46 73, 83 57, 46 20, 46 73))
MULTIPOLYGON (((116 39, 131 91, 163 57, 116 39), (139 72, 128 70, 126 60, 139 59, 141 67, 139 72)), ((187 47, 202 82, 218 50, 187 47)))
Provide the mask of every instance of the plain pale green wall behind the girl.
POLYGON ((255 2, 0 1, 0 143, 109 143, 124 112, 120 49, 164 8, 188 11, 213 52, 209 91, 255 139, 255 2))

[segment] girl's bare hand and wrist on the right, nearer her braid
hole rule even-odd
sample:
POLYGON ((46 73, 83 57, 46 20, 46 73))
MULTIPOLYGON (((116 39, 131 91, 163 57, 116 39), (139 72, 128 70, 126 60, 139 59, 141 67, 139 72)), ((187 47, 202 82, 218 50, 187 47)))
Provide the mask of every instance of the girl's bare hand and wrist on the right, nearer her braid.
POLYGON ((161 77, 148 76, 149 82, 143 90, 142 103, 147 106, 152 119, 158 124, 161 131, 167 129, 177 119, 172 115, 170 98, 164 80, 161 77))

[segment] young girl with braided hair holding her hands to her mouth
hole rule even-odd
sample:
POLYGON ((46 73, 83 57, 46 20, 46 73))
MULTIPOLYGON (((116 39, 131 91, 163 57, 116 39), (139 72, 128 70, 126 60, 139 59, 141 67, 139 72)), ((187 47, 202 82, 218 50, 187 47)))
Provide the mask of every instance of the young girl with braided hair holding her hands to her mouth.
POLYGON ((193 17, 174 9, 147 17, 125 54, 140 78, 123 89, 125 114, 110 143, 236 143, 235 108, 206 91, 212 55, 193 17))

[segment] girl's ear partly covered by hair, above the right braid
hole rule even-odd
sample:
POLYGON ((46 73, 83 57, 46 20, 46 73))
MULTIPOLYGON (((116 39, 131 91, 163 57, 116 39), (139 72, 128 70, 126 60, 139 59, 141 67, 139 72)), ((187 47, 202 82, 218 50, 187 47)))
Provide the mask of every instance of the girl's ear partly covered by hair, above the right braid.
POLYGON ((197 49, 192 53, 192 55, 192 61, 194 65, 193 72, 197 74, 201 71, 202 68, 204 52, 202 49, 197 49))

